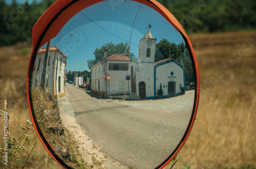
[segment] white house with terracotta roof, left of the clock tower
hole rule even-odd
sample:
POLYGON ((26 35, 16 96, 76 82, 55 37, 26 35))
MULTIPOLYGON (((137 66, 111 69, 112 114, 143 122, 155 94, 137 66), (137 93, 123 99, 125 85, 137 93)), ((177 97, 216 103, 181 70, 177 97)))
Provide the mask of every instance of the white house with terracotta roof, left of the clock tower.
POLYGON ((131 70, 137 63, 131 61, 130 54, 114 54, 107 58, 107 53, 108 49, 105 49, 103 61, 91 68, 92 91, 109 98, 132 95, 131 82, 135 81, 131 70), (132 80, 126 80, 126 76, 132 77, 132 80))

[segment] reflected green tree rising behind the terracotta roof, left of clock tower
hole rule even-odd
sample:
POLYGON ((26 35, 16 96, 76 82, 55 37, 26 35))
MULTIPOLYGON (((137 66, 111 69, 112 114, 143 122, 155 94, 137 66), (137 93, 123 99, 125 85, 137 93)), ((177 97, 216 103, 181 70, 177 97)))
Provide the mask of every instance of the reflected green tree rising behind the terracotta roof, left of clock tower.
POLYGON ((131 53, 129 50, 127 50, 128 43, 125 44, 123 42, 114 44, 112 42, 103 44, 100 48, 96 48, 93 54, 95 55, 95 59, 89 59, 87 60, 88 67, 91 69, 93 65, 103 60, 103 54, 105 48, 108 48, 108 55, 107 57, 110 57, 113 54, 130 54, 131 60, 136 61, 135 55, 131 53))

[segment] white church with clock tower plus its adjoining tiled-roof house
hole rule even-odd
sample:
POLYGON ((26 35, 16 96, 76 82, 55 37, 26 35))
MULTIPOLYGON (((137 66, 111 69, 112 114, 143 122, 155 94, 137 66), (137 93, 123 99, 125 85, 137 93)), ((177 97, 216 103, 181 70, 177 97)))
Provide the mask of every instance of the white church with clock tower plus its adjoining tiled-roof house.
MULTIPOLYGON (((174 59, 155 61, 156 39, 148 30, 140 40, 138 63, 129 54, 114 54, 95 64, 92 70, 92 91, 108 98, 157 99, 182 95, 185 89, 185 69, 174 59)), ((185 93, 185 91, 184 91, 185 93)))

